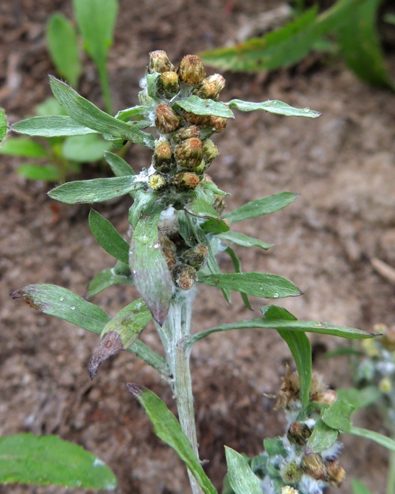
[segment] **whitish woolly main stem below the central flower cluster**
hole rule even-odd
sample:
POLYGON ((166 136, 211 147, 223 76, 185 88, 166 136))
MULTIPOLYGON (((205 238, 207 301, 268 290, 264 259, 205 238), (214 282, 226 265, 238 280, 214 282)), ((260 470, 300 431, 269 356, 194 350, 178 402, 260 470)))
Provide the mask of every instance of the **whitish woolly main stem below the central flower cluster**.
MULTIPOLYGON (((184 348, 183 344, 184 339, 190 334, 193 296, 193 293, 176 294, 171 301, 166 321, 161 327, 156 324, 156 328, 173 377, 171 386, 177 403, 179 424, 199 458, 193 410, 192 377, 189 368, 191 350, 189 347, 184 348)), ((193 494, 202 494, 202 489, 189 470, 188 476, 193 494)))

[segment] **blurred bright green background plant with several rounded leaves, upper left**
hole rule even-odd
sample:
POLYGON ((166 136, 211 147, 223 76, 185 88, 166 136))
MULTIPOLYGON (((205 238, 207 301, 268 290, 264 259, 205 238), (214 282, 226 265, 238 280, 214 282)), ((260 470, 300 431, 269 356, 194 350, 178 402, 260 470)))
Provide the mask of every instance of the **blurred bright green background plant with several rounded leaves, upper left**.
MULTIPOLYGON (((82 50, 96 65, 103 95, 104 108, 112 114, 107 54, 113 43, 118 13, 118 0, 73 0, 78 29, 59 12, 47 22, 46 44, 56 72, 77 89, 83 72, 82 50)), ((53 98, 47 98, 35 109, 35 116, 64 116, 66 113, 53 98)), ((26 137, 7 138, 0 154, 30 158, 32 163, 18 168, 29 180, 64 182, 70 173, 78 173, 83 163, 103 160, 103 151, 113 144, 99 134, 41 138, 40 142, 26 137)))

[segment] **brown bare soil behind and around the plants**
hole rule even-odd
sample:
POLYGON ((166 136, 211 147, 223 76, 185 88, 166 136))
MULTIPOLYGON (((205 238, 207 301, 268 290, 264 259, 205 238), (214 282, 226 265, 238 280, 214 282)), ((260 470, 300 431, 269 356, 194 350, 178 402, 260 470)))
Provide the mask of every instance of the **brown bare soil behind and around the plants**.
MULTIPOLYGON (((32 113, 50 95, 47 74, 55 71, 45 47, 45 22, 56 10, 71 17, 70 4, 1 4, 0 104, 11 122, 32 113)), ((137 103, 149 51, 165 49, 177 64, 185 54, 231 42, 248 20, 276 6, 274 0, 121 0, 109 60, 115 110, 137 103)), ((395 76, 393 52, 388 64, 395 76)), ((224 101, 279 99, 323 112, 316 120, 238 112, 216 137, 221 155, 210 174, 231 193, 226 200, 230 210, 283 190, 301 194, 284 210, 236 225, 240 232, 276 244, 267 252, 237 248, 244 271, 292 279, 304 294, 280 305, 299 319, 368 331, 375 323, 394 325, 395 286, 374 271, 371 259, 395 268, 395 95, 365 85, 341 61, 317 56, 272 74, 224 76, 224 101)), ((79 90, 102 106, 95 68, 87 58, 79 90)), ((133 145, 127 159, 138 171, 147 166, 150 154, 133 145)), ((33 283, 53 283, 82 295, 88 281, 111 267, 113 259, 89 232, 88 206, 49 199, 48 184, 16 174, 20 158, 2 156, 1 162, 0 434, 59 434, 84 446, 114 470, 118 494, 188 492, 183 464, 154 435, 125 387, 127 381, 145 385, 175 411, 167 384, 126 352, 105 363, 90 381, 87 364, 97 335, 9 297, 33 283)), ((78 178, 106 172, 86 166, 78 178)), ((125 235, 129 206, 122 198, 95 207, 125 235)), ((219 262, 224 271, 231 270, 226 256, 219 262)), ((136 297, 133 287, 116 286, 94 302, 113 315, 136 297)), ((255 316, 265 303, 252 300, 255 316)), ((193 330, 251 316, 238 294, 230 307, 218 290, 205 287, 196 298, 193 330)), ((161 351, 153 327, 141 339, 161 351)), ((311 341, 314 368, 332 387, 350 385, 347 359, 324 358, 327 349, 344 341, 320 336, 311 336, 311 341)), ((217 334, 195 346, 191 367, 201 458, 209 461, 205 468, 218 489, 226 471, 223 445, 254 455, 262 450, 264 437, 283 434, 284 417, 273 411, 270 395, 278 391, 287 362, 293 366, 288 348, 272 330, 217 334)), ((374 411, 358 415, 355 423, 385 433, 374 411)), ((384 492, 386 450, 353 437, 343 441, 347 479, 340 491, 349 493, 350 480, 358 478, 372 492, 384 492)), ((65 489, 0 487, 1 494, 8 492, 60 494, 65 489)))

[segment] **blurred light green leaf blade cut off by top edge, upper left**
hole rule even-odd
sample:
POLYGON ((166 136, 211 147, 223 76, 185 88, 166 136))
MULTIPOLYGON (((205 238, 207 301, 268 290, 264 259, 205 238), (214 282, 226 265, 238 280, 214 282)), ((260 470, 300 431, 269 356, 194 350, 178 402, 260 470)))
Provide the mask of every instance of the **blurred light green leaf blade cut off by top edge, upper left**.
POLYGON ((113 43, 118 13, 116 0, 73 0, 78 27, 84 39, 84 48, 99 65, 105 62, 113 43))

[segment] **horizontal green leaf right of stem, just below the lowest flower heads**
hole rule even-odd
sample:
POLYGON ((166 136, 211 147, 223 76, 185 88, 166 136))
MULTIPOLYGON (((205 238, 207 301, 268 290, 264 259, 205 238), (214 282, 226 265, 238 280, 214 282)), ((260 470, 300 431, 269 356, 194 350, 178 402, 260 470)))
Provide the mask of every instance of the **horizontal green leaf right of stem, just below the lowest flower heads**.
POLYGON ((225 288, 261 298, 283 298, 301 295, 290 280, 267 273, 219 273, 202 276, 198 283, 225 288))

